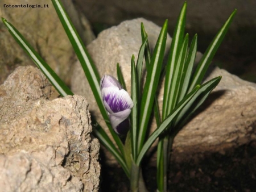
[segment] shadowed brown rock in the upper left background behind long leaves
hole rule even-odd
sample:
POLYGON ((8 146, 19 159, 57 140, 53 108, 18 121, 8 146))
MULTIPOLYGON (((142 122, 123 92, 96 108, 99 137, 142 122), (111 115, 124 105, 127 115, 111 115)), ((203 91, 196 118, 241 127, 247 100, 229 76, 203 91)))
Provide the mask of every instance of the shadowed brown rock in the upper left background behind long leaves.
MULTIPOLYGON (((85 16, 75 10, 72 1, 64 1, 64 6, 82 40, 85 43, 92 41, 94 36, 85 16)), ((2 0, 0 15, 19 30, 66 84, 70 84, 70 76, 67 74, 72 71, 72 63, 76 59, 75 52, 50 0, 36 2, 2 0), (5 4, 8 6, 48 5, 49 7, 3 7, 5 4)), ((34 62, 20 48, 2 22, 0 22, 0 31, 0 49, 2 53, 0 55, 0 84, 2 84, 16 67, 34 65, 34 62)))

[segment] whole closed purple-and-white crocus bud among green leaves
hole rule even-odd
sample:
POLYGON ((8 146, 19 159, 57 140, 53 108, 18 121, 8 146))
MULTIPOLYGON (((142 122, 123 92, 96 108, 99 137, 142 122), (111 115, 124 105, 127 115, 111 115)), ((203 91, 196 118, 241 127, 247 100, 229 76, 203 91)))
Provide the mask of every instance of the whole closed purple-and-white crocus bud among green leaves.
POLYGON ((133 108, 133 101, 121 84, 112 76, 101 78, 101 96, 109 114, 110 123, 118 134, 125 134, 129 130, 127 119, 133 108))

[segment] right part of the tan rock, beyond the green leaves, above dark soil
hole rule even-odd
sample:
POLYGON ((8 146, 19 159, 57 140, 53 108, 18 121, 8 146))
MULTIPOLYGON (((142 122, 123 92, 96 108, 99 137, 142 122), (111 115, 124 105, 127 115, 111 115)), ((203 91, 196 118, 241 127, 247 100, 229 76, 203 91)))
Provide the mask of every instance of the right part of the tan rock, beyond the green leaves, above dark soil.
POLYGON ((222 76, 220 84, 175 138, 174 154, 181 158, 189 151, 225 152, 256 139, 256 84, 217 67, 205 81, 217 76, 222 76))

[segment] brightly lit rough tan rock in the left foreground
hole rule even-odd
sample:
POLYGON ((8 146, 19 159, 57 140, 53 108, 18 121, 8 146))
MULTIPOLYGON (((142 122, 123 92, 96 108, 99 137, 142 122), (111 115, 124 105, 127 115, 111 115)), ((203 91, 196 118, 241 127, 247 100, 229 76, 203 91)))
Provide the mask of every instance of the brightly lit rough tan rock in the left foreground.
POLYGON ((32 66, 17 68, 0 86, 1 189, 98 190, 100 145, 90 137, 88 103, 57 96, 32 66))

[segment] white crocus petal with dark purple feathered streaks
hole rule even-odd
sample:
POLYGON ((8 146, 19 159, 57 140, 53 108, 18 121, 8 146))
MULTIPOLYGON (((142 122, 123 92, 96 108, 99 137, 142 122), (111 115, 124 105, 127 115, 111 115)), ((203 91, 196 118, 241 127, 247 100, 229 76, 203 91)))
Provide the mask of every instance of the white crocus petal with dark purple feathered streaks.
POLYGON ((129 93, 124 89, 119 90, 118 87, 108 87, 102 89, 101 94, 104 105, 105 103, 108 104, 108 106, 105 105, 106 110, 110 113, 133 107, 133 100, 131 100, 129 93))

